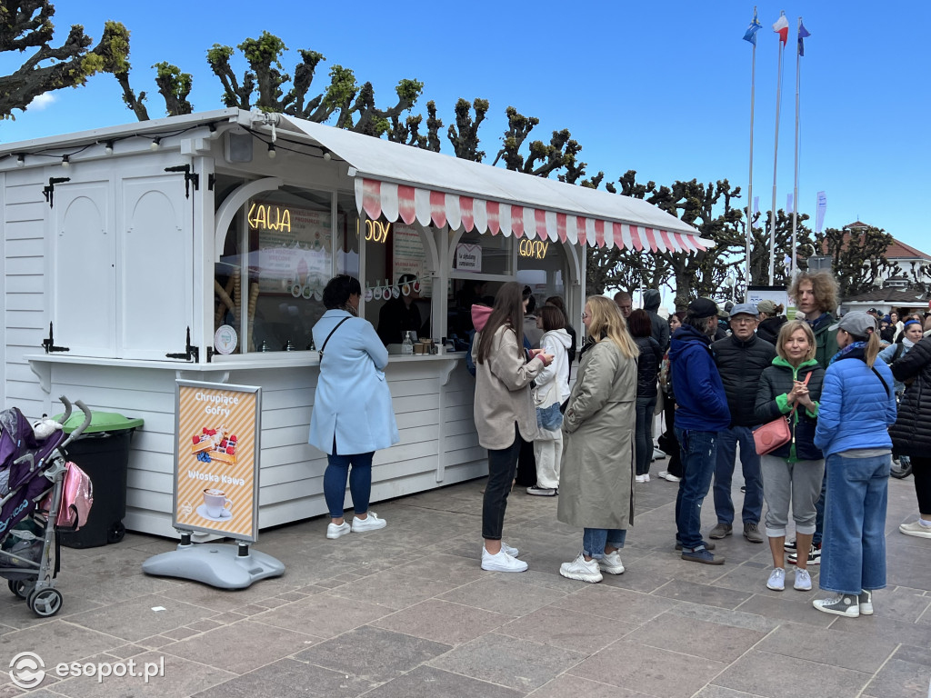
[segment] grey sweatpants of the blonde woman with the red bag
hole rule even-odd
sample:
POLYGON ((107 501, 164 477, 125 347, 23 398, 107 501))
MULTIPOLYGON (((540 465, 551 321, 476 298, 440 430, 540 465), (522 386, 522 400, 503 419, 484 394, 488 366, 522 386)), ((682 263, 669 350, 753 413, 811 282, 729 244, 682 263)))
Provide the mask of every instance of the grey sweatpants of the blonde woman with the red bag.
POLYGON ((797 533, 815 532, 815 503, 821 494, 824 461, 789 463, 784 458, 762 456, 762 497, 766 502, 766 535, 786 535, 789 499, 797 533))

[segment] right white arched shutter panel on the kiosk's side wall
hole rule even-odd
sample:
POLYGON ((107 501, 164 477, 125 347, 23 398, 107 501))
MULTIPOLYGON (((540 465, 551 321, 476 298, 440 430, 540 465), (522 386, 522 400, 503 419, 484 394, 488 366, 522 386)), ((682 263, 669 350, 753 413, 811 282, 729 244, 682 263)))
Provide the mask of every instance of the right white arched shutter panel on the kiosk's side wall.
POLYGON ((193 213, 178 179, 122 181, 117 356, 123 358, 183 352, 194 324, 193 213))

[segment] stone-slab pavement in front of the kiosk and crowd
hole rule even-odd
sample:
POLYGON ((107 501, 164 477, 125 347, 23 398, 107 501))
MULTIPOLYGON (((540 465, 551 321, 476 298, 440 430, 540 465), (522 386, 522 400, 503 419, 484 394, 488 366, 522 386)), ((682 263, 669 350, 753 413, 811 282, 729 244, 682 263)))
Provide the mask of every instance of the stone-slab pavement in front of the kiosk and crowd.
MULTIPOLYGON (((511 495, 506 541, 530 570, 484 572, 483 485, 380 503, 387 529, 337 541, 324 538, 324 518, 264 531, 257 549, 287 571, 239 592, 144 576, 142 561, 173 547, 164 539, 65 549, 59 616, 38 619, 0 595, 0 698, 928 695, 931 540, 897 531, 916 516, 911 478, 890 481, 889 588, 874 595, 876 614, 858 619, 815 611, 818 592, 793 590, 791 572, 786 591, 766 589, 767 546, 736 527, 718 544, 722 567, 681 560, 676 485, 664 480, 637 486, 624 574, 601 584, 560 577, 581 532, 557 522, 555 499, 522 490, 511 495), (47 675, 20 691, 7 667, 21 651, 52 673, 62 662, 135 660, 140 672, 163 660, 164 676, 47 675)), ((710 498, 704 518, 708 530, 710 498)))

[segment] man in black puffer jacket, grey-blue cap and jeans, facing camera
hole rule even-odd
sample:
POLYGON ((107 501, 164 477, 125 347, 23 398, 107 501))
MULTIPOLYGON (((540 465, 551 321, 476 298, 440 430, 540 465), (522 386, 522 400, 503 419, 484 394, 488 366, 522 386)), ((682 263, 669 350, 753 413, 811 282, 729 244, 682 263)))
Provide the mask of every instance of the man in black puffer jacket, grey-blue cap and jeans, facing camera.
POLYGON ((776 347, 756 336, 759 313, 753 303, 739 303, 731 312, 731 336, 711 344, 714 362, 721 373, 731 424, 718 433, 718 460, 714 471, 714 510, 718 516, 708 538, 731 535, 734 502, 731 478, 734 476, 735 451, 740 444, 740 463, 744 471, 744 506, 741 517, 744 537, 750 543, 762 543, 759 530, 762 514, 762 474, 760 456, 753 444, 753 427, 758 426, 755 412, 757 387, 762 370, 773 363, 776 347))

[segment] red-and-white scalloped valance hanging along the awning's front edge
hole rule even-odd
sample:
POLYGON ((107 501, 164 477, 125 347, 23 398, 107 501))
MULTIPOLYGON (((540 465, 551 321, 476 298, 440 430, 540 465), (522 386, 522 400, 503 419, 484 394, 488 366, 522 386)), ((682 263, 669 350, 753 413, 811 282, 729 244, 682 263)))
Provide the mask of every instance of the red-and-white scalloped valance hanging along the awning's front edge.
POLYGON ((520 206, 500 201, 486 201, 475 196, 445 194, 421 187, 390 181, 356 179, 358 209, 365 209, 371 219, 413 221, 442 228, 460 225, 471 233, 515 235, 556 242, 588 244, 650 250, 653 252, 694 252, 709 247, 708 240, 697 235, 676 233, 647 225, 606 221, 590 216, 560 213, 546 208, 520 206))

